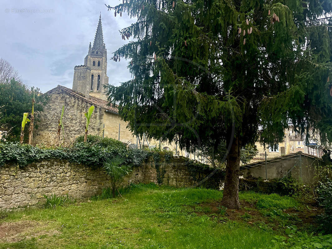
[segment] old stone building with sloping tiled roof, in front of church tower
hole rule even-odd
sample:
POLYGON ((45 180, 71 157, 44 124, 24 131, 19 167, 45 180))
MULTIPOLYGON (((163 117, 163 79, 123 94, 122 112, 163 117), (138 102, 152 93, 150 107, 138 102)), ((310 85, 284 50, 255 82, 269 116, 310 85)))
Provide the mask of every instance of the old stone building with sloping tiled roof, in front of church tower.
POLYGON ((118 110, 109 107, 105 100, 85 96, 60 85, 46 94, 49 96, 49 102, 39 114, 34 134, 35 144, 46 146, 56 144, 58 120, 61 116, 62 106, 64 106, 62 118, 64 133, 61 135, 61 143, 70 145, 78 136, 84 134, 86 124, 84 113, 91 106, 94 106, 95 109, 89 125, 89 134, 119 139, 120 124, 120 141, 127 144, 136 143, 136 137, 134 138, 131 132, 126 129, 127 124, 121 120, 118 110))

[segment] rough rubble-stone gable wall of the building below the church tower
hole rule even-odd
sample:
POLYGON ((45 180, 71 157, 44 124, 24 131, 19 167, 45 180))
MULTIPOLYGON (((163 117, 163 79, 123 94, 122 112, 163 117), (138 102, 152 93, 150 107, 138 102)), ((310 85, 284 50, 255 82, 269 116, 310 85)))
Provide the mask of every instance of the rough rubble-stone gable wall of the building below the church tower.
MULTIPOLYGON (((47 146, 56 144, 58 120, 63 105, 64 143, 70 144, 76 137, 84 135, 86 124, 84 113, 89 110, 91 104, 76 96, 64 94, 59 88, 54 88, 53 91, 49 94, 48 104, 45 105, 44 110, 38 116, 39 121, 36 122, 34 132, 34 144, 45 144, 47 146)), ((95 106, 89 125, 89 134, 102 135, 103 116, 103 109, 95 106)))

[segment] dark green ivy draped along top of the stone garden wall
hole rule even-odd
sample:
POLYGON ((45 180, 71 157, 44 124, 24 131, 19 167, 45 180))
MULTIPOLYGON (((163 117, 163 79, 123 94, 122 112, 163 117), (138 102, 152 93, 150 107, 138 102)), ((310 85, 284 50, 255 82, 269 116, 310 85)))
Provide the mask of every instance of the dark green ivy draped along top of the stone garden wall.
POLYGON ((85 165, 101 165, 107 158, 120 154, 126 163, 140 165, 149 157, 148 151, 127 149, 126 146, 112 138, 100 138, 89 135, 88 142, 81 142, 79 137, 70 148, 33 147, 16 142, 0 143, 0 166, 15 163, 24 167, 29 163, 47 159, 63 159, 85 165))

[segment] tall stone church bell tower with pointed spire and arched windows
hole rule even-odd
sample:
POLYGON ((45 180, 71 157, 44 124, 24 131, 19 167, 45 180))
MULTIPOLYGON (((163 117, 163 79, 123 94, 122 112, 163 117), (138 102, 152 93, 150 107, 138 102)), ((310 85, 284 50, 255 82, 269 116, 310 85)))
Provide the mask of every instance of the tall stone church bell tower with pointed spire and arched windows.
POLYGON ((73 90, 88 96, 106 100, 104 85, 108 84, 107 51, 103 38, 101 15, 95 35, 93 46, 91 42, 89 51, 84 58, 84 65, 74 67, 73 90))

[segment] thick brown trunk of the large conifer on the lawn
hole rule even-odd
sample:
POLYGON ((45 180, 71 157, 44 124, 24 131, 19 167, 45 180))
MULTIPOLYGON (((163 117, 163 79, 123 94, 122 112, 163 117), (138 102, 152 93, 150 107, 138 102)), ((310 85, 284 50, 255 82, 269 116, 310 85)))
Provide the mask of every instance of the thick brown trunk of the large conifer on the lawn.
POLYGON ((240 209, 239 176, 240 176, 240 150, 239 138, 235 137, 230 147, 227 163, 222 205, 230 209, 240 209))

